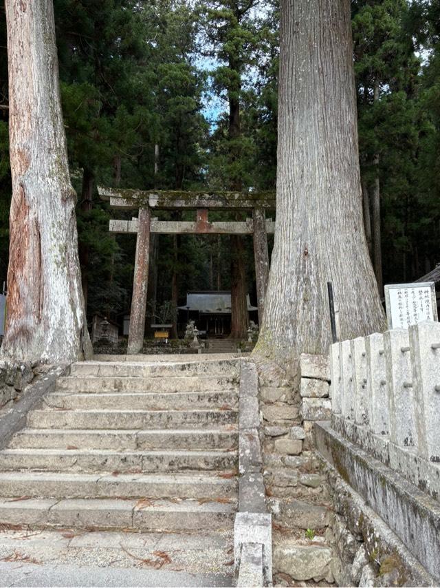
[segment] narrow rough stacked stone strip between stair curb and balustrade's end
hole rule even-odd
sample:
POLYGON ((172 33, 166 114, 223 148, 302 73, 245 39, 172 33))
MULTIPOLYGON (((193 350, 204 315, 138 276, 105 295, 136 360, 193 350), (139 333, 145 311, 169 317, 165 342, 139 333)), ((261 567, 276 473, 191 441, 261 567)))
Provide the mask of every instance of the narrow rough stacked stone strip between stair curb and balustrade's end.
POLYGON ((259 364, 264 482, 272 512, 274 583, 332 583, 331 492, 313 425, 329 418, 329 361, 303 355, 293 381, 259 364))

